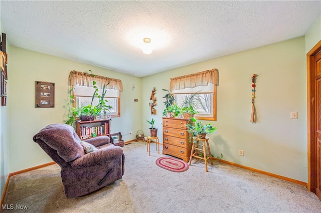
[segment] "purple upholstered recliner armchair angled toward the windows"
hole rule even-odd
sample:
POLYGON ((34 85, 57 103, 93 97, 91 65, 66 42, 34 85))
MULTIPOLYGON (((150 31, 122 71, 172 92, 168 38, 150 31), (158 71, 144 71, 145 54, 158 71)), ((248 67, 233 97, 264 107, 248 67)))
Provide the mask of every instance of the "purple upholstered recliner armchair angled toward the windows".
POLYGON ((33 139, 60 165, 67 198, 93 192, 124 174, 123 150, 110 143, 108 136, 83 140, 98 148, 89 153, 85 153, 74 128, 67 124, 50 124, 33 139))

